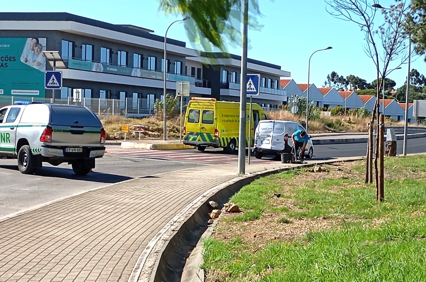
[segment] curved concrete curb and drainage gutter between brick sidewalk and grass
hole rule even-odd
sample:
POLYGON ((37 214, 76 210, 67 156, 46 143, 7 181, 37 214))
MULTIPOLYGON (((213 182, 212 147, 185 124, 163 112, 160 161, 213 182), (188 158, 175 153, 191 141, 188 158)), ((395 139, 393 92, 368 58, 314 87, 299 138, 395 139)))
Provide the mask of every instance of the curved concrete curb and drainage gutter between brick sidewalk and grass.
MULTIPOLYGON (((262 176, 300 167, 311 167, 337 161, 354 161, 363 158, 333 159, 265 170, 240 176, 213 187, 178 213, 179 217, 175 216, 166 225, 168 226, 166 231, 160 231, 161 236, 155 239, 155 243, 153 244, 155 246, 152 246, 149 252, 145 252, 144 250, 144 253, 141 255, 144 257, 142 259, 140 257, 140 260, 138 260, 138 263, 141 261, 142 264, 138 265, 137 263, 135 265, 134 271, 128 281, 181 281, 186 258, 190 255, 193 247, 198 244, 201 235, 207 229, 208 213, 211 211, 208 205, 209 201, 216 201, 219 205, 223 206, 230 196, 239 191, 243 186, 250 184, 253 180, 262 176)), ((202 262, 202 250, 198 250, 197 253, 193 256, 193 259, 196 260, 193 265, 202 262), (201 259, 199 256, 201 256, 201 259)), ((196 267, 190 267, 190 269, 190 273, 185 273, 185 282, 202 281, 200 279, 204 277, 204 272, 201 274, 200 270, 196 269, 196 267)))

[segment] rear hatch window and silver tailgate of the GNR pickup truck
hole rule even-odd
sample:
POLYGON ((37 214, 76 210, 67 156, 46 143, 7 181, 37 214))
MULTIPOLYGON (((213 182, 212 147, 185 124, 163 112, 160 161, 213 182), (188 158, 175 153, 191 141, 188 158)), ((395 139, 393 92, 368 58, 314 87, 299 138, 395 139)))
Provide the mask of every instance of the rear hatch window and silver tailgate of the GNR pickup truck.
POLYGON ((52 105, 52 146, 99 147, 101 121, 86 107, 52 105))

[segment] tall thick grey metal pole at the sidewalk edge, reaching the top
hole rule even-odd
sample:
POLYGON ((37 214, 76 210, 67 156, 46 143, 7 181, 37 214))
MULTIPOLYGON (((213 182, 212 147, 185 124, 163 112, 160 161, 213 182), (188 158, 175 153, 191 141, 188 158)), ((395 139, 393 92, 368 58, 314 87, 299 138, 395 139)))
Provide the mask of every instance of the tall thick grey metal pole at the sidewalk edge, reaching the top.
MULTIPOLYGON (((238 174, 245 174, 245 120, 247 87, 247 29, 248 29, 248 0, 244 0, 242 22, 242 55, 241 55, 241 79, 240 79, 240 127, 238 142, 238 174)), ((250 152, 249 152, 250 153, 250 152)))

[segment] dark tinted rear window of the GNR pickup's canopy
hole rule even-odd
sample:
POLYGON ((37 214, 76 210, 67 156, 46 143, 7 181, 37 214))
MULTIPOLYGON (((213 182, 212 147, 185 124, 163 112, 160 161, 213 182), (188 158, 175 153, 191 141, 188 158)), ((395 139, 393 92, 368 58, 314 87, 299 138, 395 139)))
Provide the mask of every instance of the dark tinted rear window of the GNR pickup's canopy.
POLYGON ((92 112, 78 106, 52 106, 52 124, 75 126, 101 125, 92 112))

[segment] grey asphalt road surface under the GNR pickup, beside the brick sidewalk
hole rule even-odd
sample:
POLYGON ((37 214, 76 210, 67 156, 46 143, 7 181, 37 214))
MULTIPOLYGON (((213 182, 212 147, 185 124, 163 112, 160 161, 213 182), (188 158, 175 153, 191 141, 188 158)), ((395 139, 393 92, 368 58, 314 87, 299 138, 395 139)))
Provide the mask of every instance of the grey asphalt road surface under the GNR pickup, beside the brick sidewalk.
POLYGON ((199 167, 189 162, 160 161, 106 154, 94 172, 76 176, 70 165, 43 163, 34 175, 23 175, 14 159, 0 159, 0 219, 11 213, 136 177, 199 167))

